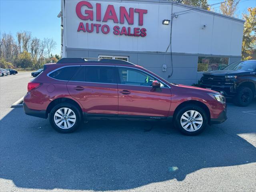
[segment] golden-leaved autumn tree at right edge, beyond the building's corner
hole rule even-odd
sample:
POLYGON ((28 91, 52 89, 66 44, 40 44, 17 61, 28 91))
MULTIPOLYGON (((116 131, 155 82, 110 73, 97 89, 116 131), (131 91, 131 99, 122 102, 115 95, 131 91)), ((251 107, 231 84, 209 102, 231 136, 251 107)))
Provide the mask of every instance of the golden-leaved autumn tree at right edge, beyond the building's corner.
POLYGON ((243 14, 244 35, 242 42, 242 60, 252 59, 253 45, 256 44, 256 7, 248 8, 248 14, 243 14))

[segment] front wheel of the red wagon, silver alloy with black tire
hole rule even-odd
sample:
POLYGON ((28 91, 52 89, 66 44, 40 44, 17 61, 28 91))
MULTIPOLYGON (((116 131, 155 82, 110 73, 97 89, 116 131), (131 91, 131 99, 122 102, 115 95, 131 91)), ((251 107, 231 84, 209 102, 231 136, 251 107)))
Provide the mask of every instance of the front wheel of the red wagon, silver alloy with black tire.
POLYGON ((202 133, 206 128, 208 118, 205 110, 200 106, 188 104, 178 111, 174 121, 176 128, 178 128, 182 134, 195 136, 202 133))

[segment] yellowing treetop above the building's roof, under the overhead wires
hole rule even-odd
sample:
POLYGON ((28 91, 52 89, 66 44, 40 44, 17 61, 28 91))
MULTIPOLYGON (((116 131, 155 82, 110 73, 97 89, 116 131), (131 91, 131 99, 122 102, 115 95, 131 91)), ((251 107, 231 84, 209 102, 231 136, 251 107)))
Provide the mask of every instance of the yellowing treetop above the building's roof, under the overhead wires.
POLYGON ((220 13, 234 17, 236 16, 237 6, 240 0, 225 0, 224 3, 220 4, 220 13))

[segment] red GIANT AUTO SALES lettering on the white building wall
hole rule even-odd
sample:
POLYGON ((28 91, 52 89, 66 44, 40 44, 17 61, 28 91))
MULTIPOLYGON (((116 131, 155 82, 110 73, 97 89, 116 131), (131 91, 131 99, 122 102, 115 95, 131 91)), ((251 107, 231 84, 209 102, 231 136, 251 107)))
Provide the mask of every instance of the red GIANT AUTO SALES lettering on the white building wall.
POLYGON ((78 32, 96 32, 102 34, 113 33, 114 35, 125 35, 125 36, 137 36, 145 37, 146 28, 143 28, 143 17, 148 13, 146 9, 138 8, 129 8, 127 10, 124 6, 120 6, 119 10, 115 10, 113 5, 108 5, 105 12, 102 12, 101 4, 96 3, 96 7, 93 7, 92 4, 88 1, 80 1, 76 4, 76 15, 78 18, 84 21, 98 21, 106 22, 106 24, 96 24, 89 22, 80 22, 78 24, 78 32), (82 12, 82 8, 86 7, 88 9, 82 12), (116 14, 116 11, 119 11, 119 18, 116 14), (94 12, 96 12, 96 18, 94 18, 94 12), (138 25, 140 27, 125 27, 121 24, 124 24, 125 20, 129 25, 134 24, 134 18, 138 19, 138 25), (116 26, 110 28, 107 22, 112 20, 116 23, 116 26))

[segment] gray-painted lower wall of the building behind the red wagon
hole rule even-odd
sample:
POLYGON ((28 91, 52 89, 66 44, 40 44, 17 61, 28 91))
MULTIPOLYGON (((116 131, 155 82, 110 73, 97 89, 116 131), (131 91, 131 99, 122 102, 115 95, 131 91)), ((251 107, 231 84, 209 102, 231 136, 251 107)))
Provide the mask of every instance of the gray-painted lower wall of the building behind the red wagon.
MULTIPOLYGON (((197 83, 202 76, 202 72, 197 72, 198 56, 224 56, 224 55, 204 55, 204 54, 183 54, 173 53, 173 74, 170 53, 163 52, 129 52, 129 51, 109 51, 109 50, 86 50, 66 48, 67 57, 90 57, 98 58, 99 55, 128 56, 129 61, 143 66, 154 72, 169 82, 191 85, 197 83), (167 65, 166 72, 162 72, 162 65, 167 65)), ((224 56, 230 58, 230 63, 241 59, 240 56, 224 56)))

